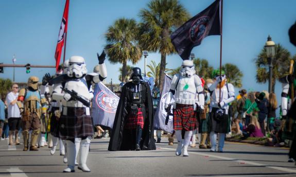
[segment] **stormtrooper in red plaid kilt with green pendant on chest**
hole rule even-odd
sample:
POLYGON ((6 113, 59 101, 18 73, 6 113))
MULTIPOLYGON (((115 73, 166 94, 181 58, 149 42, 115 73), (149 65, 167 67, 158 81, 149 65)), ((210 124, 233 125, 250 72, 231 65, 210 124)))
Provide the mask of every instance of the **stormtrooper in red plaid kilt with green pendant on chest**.
POLYGON ((193 130, 197 128, 196 110, 204 109, 202 82, 195 72, 193 61, 184 60, 180 72, 172 78, 170 91, 165 100, 165 108, 168 108, 172 96, 175 95, 173 128, 178 140, 176 155, 181 155, 183 149, 183 156, 188 156, 190 138, 193 130), (182 140, 182 130, 185 130, 184 140, 182 140))

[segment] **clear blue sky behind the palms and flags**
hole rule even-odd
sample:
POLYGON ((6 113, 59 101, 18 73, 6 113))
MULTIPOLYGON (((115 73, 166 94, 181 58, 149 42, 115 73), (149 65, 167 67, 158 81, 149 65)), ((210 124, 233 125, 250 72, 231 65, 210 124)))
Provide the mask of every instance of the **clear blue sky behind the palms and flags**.
MULTIPOLYGON (((209 6, 214 0, 182 0, 181 4, 194 16, 209 6)), ((106 45, 104 34, 114 21, 120 17, 135 18, 147 7, 149 1, 100 1, 71 0, 69 4, 68 34, 66 58, 81 55, 85 58, 91 72, 97 64, 96 52, 106 45)), ((61 24, 65 0, 2 0, 0 1, 0 62, 12 64, 16 54, 16 64, 55 65, 55 49, 61 24)), ((268 90, 267 84, 257 84, 253 59, 265 45, 268 34, 272 40, 283 45, 292 55, 296 47, 289 43, 288 29, 296 20, 296 1, 285 0, 224 0, 223 3, 223 49, 222 64, 232 63, 243 72, 243 88, 268 90)), ((193 49, 196 57, 206 58, 208 62, 219 66, 219 36, 206 37, 200 46, 193 49)), ((147 58, 160 62, 160 54, 150 53, 147 58)), ((177 54, 167 56, 167 68, 181 65, 177 54)), ((111 65, 108 69, 107 83, 118 81, 118 69, 121 65, 111 65)), ((132 65, 129 63, 129 65, 132 65)), ((144 71, 144 56, 136 64, 144 71)), ((32 68, 26 74, 25 68, 16 68, 15 81, 26 82, 31 75, 40 78, 46 73, 55 73, 54 69, 32 68)), ((12 68, 5 68, 0 77, 11 78, 12 68)), ((238 91, 238 89, 236 89, 238 91)), ((281 85, 276 84, 277 96, 281 85)))

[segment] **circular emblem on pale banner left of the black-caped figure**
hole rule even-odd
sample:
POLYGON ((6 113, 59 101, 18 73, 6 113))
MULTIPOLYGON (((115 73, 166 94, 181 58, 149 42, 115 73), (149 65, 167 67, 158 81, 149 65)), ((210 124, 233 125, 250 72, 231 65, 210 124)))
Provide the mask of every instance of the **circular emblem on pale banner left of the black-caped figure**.
POLYGON ((97 106, 110 113, 115 113, 118 106, 118 97, 108 94, 106 91, 100 91, 96 96, 97 106))

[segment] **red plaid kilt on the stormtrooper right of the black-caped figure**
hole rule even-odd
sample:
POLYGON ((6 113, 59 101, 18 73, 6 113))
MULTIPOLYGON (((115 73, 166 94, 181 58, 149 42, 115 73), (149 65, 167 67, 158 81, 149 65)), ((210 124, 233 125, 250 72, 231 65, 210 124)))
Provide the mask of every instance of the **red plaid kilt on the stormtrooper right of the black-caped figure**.
POLYGON ((173 110, 173 129, 191 131, 196 128, 196 111, 193 105, 176 104, 176 109, 173 110))

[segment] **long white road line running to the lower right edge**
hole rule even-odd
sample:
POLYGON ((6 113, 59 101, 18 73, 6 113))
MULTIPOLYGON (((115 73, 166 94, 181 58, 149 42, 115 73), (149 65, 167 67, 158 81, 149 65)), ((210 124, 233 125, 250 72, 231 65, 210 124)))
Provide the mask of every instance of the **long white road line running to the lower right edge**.
MULTIPOLYGON (((162 148, 162 149, 167 149, 167 150, 172 150, 172 151, 176 150, 176 149, 172 149, 172 148, 162 148)), ((224 156, 218 156, 218 155, 201 153, 201 152, 190 152, 190 151, 188 151, 188 153, 202 155, 202 156, 210 156, 212 158, 223 159, 223 160, 228 160, 228 161, 233 161, 233 162, 238 162, 238 163, 244 163, 244 164, 249 164, 249 165, 265 166, 266 168, 272 168, 272 169, 275 169, 275 170, 285 171, 285 172, 289 172, 289 173, 296 173, 296 170, 289 169, 289 168, 273 167, 273 166, 269 166, 269 165, 266 165, 266 164, 259 164, 259 163, 251 162, 251 161, 242 161, 242 160, 237 160, 237 159, 232 159, 232 158, 226 158, 224 156)))

